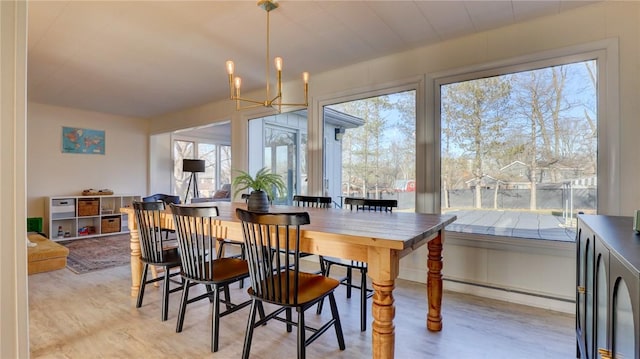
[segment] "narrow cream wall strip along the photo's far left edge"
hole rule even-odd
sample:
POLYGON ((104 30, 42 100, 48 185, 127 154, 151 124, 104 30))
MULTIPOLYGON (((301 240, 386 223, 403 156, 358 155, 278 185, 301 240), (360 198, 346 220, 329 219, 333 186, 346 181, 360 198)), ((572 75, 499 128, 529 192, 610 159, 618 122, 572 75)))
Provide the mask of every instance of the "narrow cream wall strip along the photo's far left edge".
POLYGON ((0 358, 29 357, 27 4, 0 1, 0 358))

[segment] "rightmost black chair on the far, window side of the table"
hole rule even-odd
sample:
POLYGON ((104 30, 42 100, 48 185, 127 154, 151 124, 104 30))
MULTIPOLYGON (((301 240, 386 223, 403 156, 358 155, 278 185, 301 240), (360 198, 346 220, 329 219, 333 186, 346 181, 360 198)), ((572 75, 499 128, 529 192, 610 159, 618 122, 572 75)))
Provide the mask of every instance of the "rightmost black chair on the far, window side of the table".
MULTIPOLYGON (((391 212, 398 207, 398 201, 395 199, 372 199, 372 198, 353 198, 344 199, 344 204, 349 210, 356 211, 374 211, 374 212, 391 212)), ((373 290, 367 288, 367 263, 346 260, 342 258, 320 256, 320 268, 325 276, 329 276, 331 266, 341 266, 346 268, 347 275, 340 279, 340 284, 347 287, 347 298, 351 298, 351 289, 360 290, 360 331, 367 330, 367 299, 373 296, 373 290), (360 272, 360 285, 353 283, 353 271, 360 272)), ((322 312, 322 302, 318 304, 317 313, 322 312)))

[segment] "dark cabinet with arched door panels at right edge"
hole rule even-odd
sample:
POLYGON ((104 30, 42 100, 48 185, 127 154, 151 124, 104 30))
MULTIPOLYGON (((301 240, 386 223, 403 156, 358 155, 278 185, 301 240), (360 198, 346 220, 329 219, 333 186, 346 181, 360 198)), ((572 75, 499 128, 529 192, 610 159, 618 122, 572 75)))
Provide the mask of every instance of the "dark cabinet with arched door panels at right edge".
POLYGON ((579 358, 640 358, 640 235, 631 217, 579 215, 579 358))

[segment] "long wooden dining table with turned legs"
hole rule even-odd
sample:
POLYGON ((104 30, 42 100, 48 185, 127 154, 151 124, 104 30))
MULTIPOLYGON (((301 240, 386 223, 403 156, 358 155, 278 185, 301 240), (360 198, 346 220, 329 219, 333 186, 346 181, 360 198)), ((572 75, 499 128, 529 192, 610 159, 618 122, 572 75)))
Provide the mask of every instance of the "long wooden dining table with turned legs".
MULTIPOLYGON (((217 236, 243 240, 236 208, 239 202, 208 202, 193 206, 215 205, 219 210, 217 236)), ((140 242, 133 208, 121 208, 128 214, 131 234, 131 296, 137 296, 142 276, 140 242)), ((453 215, 415 212, 349 211, 340 208, 301 208, 271 206, 270 212, 308 212, 311 224, 301 228, 300 250, 307 253, 366 262, 367 275, 373 283, 373 358, 393 358, 395 350, 395 300, 393 290, 400 271, 400 259, 427 245, 426 326, 430 331, 442 330, 442 243, 445 226, 456 220, 453 215)), ((173 228, 173 218, 166 210, 164 226, 173 228)))

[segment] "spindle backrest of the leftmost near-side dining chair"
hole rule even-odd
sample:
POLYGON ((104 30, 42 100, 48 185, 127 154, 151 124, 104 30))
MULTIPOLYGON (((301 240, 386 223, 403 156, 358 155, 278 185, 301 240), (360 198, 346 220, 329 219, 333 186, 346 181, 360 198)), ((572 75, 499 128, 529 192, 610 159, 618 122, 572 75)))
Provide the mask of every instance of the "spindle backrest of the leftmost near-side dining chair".
POLYGON ((164 262, 162 238, 164 202, 136 201, 133 202, 133 209, 138 223, 142 259, 153 263, 164 262))

